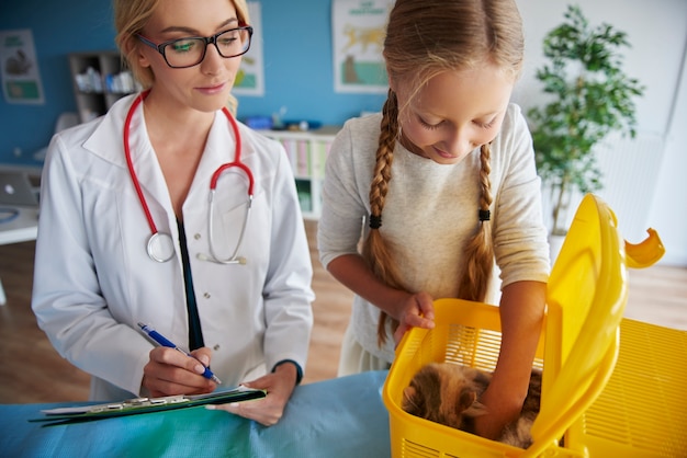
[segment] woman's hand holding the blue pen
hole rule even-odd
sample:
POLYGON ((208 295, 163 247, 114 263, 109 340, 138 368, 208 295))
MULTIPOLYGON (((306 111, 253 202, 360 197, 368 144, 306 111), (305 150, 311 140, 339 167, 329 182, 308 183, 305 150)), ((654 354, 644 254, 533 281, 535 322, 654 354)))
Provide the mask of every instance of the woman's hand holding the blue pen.
POLYGON ((205 371, 203 365, 210 366, 211 350, 203 347, 191 354, 194 358, 165 346, 150 351, 150 360, 143 368, 142 381, 150 397, 204 394, 217 388, 214 381, 202 376, 205 371))

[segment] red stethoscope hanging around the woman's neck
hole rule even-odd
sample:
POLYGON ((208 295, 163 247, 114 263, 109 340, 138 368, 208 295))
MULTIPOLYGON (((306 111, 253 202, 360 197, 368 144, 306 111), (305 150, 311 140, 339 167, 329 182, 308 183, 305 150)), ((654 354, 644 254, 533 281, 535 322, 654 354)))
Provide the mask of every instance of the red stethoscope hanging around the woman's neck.
MULTIPOLYGON (((132 117, 134 116, 134 112, 136 111, 140 102, 143 102, 144 99, 148 96, 149 92, 150 91, 148 90, 148 91, 140 93, 140 95, 137 96, 136 100, 134 100, 134 103, 132 104, 131 108, 128 108, 126 119, 124 121, 124 156, 126 157, 126 167, 128 168, 128 173, 131 174, 132 182, 134 183, 134 187, 136 188, 138 201, 140 202, 143 211, 146 214, 146 219, 148 220, 148 226, 150 227, 150 237, 148 238, 148 241, 146 243, 146 251, 148 253, 148 256, 150 256, 151 260, 162 263, 162 262, 167 262, 171 260, 174 256, 174 242, 172 240, 171 234, 169 234, 168 232, 160 232, 157 230, 157 226, 155 225, 155 221, 153 220, 153 215, 150 215, 150 209, 148 208, 146 198, 143 195, 140 183, 138 182, 138 178, 136 176, 136 171, 134 170, 134 163, 132 161, 132 154, 131 154, 131 150, 128 147, 128 134, 131 130, 132 117)), ((229 124, 232 125, 232 130, 234 131, 234 138, 236 139, 236 154, 234 156, 233 162, 227 162, 227 163, 219 165, 219 168, 215 170, 215 172, 212 174, 212 178, 210 180, 210 197, 207 201, 209 206, 210 206, 210 209, 207 211, 207 238, 209 238, 207 244, 210 247, 210 255, 199 253, 196 257, 202 261, 211 261, 217 264, 246 264, 246 259, 243 256, 238 256, 238 250, 240 249, 241 242, 244 241, 244 233, 246 232, 246 226, 248 224, 248 216, 250 214, 250 207, 252 205, 254 180, 252 180, 252 173, 250 172, 250 169, 248 169, 248 165, 241 162, 241 158, 240 158, 241 137, 238 131, 238 125, 236 124, 234 116, 232 116, 232 114, 226 107, 223 107, 222 112, 225 114, 227 119, 229 119, 229 124), (214 202, 215 190, 217 187, 217 181, 219 180, 219 176, 222 175, 222 173, 224 173, 227 169, 230 169, 230 168, 238 168, 248 178, 248 202, 246 206, 246 214, 244 216, 244 225, 241 226, 241 231, 238 236, 238 242, 236 243, 236 249, 234 250, 234 252, 232 253, 229 257, 222 259, 216 254, 215 249, 214 249, 214 243, 213 243, 213 228, 212 228, 213 216, 214 216, 213 202, 214 202)))

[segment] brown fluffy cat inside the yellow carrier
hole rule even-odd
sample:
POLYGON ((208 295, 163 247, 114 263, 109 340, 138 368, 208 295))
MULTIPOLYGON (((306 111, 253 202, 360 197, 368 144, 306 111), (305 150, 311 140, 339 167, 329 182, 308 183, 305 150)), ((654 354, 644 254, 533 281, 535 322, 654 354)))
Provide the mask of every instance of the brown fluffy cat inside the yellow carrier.
MULTIPOLYGON (((474 434, 474 419, 485 413, 477 399, 489 385, 489 373, 453 363, 429 363, 421 367, 403 391, 402 409, 431 422, 474 434)), ((499 442, 527 448, 530 428, 539 413, 541 371, 532 369, 520 416, 508 424, 499 442)))

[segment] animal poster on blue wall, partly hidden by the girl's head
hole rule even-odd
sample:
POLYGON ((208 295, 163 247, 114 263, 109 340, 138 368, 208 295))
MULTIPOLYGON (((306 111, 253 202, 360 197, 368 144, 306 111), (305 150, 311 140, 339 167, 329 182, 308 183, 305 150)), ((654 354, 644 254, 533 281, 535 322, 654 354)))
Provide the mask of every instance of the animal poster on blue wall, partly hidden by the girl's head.
POLYGON ((335 92, 386 92, 382 48, 392 5, 393 0, 334 0, 335 92))

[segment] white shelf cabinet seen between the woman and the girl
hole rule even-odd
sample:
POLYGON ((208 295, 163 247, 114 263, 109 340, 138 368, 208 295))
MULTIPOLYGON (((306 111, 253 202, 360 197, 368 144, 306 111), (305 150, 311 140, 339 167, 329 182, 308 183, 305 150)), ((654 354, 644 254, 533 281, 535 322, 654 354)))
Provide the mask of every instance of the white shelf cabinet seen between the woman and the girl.
POLYGON ((284 146, 296 179, 303 217, 306 219, 318 219, 322 213, 325 161, 338 130, 334 126, 309 131, 258 130, 284 146))

